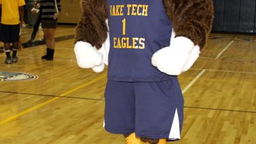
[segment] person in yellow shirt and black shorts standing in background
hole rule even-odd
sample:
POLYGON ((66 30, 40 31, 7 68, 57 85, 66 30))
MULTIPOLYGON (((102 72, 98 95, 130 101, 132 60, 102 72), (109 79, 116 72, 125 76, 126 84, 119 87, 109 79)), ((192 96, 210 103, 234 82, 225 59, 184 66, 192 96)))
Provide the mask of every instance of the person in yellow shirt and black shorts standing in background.
POLYGON ((17 49, 19 46, 20 25, 24 26, 24 0, 0 0, 2 9, 1 17, 1 41, 4 42, 6 53, 5 63, 17 62, 17 49), (12 57, 10 56, 12 44, 12 57))

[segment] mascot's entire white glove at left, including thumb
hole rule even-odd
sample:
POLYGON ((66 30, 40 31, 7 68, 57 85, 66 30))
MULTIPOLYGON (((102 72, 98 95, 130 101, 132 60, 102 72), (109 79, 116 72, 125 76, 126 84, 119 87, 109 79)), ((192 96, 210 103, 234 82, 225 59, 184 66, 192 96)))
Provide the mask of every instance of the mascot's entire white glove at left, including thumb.
POLYGON ((106 42, 97 50, 88 42, 77 42, 74 48, 77 64, 81 68, 92 68, 94 72, 102 72, 104 63, 108 65, 109 34, 106 42))

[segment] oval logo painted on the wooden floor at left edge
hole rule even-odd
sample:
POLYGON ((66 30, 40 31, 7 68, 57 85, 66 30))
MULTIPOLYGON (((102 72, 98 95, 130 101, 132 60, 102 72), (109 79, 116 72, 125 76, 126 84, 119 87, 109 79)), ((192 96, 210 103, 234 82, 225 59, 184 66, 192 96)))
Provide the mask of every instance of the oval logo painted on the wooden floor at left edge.
POLYGON ((32 74, 26 74, 24 72, 1 72, 0 81, 28 81, 37 79, 38 76, 32 74))

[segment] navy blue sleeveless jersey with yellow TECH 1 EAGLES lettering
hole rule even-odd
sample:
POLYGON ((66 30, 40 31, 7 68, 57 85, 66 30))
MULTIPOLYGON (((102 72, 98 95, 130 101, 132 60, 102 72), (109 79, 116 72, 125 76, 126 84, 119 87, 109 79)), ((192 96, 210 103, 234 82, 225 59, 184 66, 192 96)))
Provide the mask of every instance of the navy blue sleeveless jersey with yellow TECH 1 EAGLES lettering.
POLYGON ((161 0, 108 0, 109 67, 112 81, 171 79, 151 64, 154 52, 170 45, 172 22, 161 0))

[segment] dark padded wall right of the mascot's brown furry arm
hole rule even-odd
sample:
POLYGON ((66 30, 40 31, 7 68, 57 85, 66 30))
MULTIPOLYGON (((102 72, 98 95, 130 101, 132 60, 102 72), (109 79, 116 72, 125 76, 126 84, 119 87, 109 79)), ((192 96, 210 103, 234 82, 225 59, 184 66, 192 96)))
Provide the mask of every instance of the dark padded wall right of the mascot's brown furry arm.
POLYGON ((256 33, 255 0, 213 0, 212 31, 256 33))

